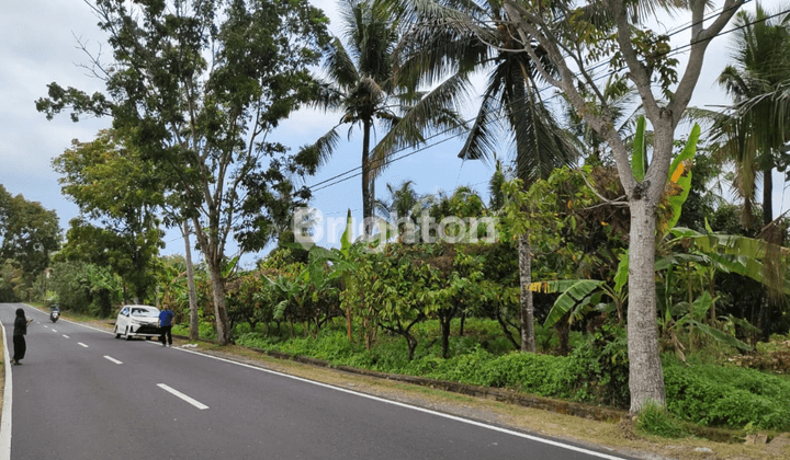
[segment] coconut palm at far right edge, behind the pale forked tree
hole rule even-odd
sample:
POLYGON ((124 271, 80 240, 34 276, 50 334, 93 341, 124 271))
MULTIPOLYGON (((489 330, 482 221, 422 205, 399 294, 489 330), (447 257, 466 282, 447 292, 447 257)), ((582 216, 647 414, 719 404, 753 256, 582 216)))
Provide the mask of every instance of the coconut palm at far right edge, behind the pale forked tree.
POLYGON ((735 188, 744 199, 745 227, 752 223, 758 175, 763 179, 763 226, 774 220, 771 174, 790 161, 786 147, 790 141, 788 99, 781 97, 782 89, 790 84, 790 14, 772 16, 759 3, 754 13, 736 15, 734 64, 719 77, 734 104, 727 113, 716 115, 713 139, 719 142, 719 153, 736 165, 735 188))

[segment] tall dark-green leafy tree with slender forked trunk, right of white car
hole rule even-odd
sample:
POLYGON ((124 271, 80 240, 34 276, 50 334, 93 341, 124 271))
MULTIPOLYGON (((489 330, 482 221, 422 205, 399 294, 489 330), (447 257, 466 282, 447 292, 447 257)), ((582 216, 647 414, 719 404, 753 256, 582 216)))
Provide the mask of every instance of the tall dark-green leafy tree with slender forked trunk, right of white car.
MULTIPOLYGON (((52 83, 36 106, 49 118, 67 108, 75 120, 112 116, 162 170, 205 256, 217 335, 227 344, 225 251, 234 231, 251 230, 235 228, 245 197, 315 166, 295 164, 268 135, 314 97, 309 67, 326 44, 327 19, 304 0, 95 0, 92 8, 113 50, 111 64, 93 59, 106 92, 52 83)), ((242 251, 263 243, 248 241, 242 251)))

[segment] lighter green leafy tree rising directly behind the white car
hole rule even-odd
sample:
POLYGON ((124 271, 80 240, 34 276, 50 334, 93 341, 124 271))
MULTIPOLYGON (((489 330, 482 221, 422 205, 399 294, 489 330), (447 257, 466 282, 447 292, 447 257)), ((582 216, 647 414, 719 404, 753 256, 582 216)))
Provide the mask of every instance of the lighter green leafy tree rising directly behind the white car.
POLYGON ((63 255, 109 264, 132 284, 136 301, 145 301, 154 291, 155 261, 163 248, 157 218, 165 199, 159 170, 114 130, 101 131, 90 142, 75 140, 53 166, 61 174, 63 193, 84 216, 70 222, 63 255))

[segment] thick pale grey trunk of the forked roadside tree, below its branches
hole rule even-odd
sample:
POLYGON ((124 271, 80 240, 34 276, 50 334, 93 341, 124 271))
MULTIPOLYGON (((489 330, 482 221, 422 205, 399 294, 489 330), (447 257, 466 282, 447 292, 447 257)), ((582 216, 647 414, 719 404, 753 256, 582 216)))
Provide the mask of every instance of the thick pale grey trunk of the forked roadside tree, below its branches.
POLYGON ((664 373, 658 349, 655 298, 655 207, 631 200, 629 244, 628 352, 631 414, 648 401, 664 405, 664 373))

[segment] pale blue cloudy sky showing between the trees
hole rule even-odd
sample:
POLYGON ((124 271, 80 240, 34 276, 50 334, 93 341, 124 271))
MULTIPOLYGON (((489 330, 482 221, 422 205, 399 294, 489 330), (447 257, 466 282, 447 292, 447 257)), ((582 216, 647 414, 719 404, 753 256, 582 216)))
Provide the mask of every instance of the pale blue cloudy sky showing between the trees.
MULTIPOLYGON (((339 32, 337 7, 334 0, 314 1, 331 20, 330 30, 339 32)), ((764 2, 770 4, 772 2, 764 2)), ((747 8, 751 5, 747 5, 747 8)), ((78 38, 98 53, 104 35, 97 27, 97 19, 82 0, 26 0, 0 2, 0 184, 11 194, 22 194, 29 200, 40 202, 55 209, 60 227, 78 215, 78 208, 60 195, 58 175, 50 168, 53 158, 70 146, 71 139, 88 141, 95 133, 110 126, 110 119, 82 119, 72 123, 67 115, 47 122, 35 110, 35 100, 46 95, 46 84, 57 81, 88 91, 99 91, 102 84, 80 68, 87 56, 79 49, 78 38)), ((682 21, 680 21, 681 23, 682 21)), ((676 25, 670 19, 659 27, 676 25)), ((679 43, 688 41, 680 34, 679 43)), ((692 105, 726 104, 724 94, 715 88, 715 77, 727 62, 729 37, 715 39, 709 49, 702 78, 697 87, 692 105)), ((110 51, 106 44, 103 51, 110 51)), ((474 112, 470 107, 469 114, 474 112)), ((281 124, 273 138, 296 149, 324 135, 338 120, 338 114, 301 111, 281 124)), ((350 140, 343 140, 332 160, 314 177, 313 185, 360 164, 361 136, 356 130, 350 140)), ((440 140, 440 139, 437 139, 440 140)), ((486 193, 492 170, 482 162, 462 162, 456 158, 460 142, 451 140, 420 151, 393 163, 376 182, 376 195, 386 197, 385 185, 415 182, 419 193, 452 192, 461 185, 471 185, 486 193)), ((405 151, 404 153, 408 153, 405 151)), ((783 202, 783 177, 775 177, 775 210, 787 208, 783 202)), ((361 215, 361 183, 359 177, 345 181, 316 192, 313 206, 325 216, 342 216, 351 209, 361 215)), ((165 254, 182 253, 183 243, 178 232, 167 237, 165 254)), ((255 260, 250 254, 245 261, 255 260)))

